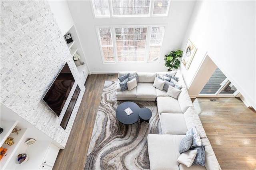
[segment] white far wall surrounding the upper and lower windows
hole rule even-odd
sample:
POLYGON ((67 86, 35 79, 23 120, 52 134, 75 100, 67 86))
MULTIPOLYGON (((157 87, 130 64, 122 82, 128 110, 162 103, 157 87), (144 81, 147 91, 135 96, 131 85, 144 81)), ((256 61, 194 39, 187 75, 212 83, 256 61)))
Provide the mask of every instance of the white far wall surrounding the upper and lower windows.
POLYGON ((172 1, 170 15, 164 18, 94 18, 90 1, 68 1, 91 73, 117 73, 128 70, 166 71, 164 55, 180 48, 194 4, 194 1, 172 1), (122 24, 167 24, 160 63, 102 63, 95 26, 122 24))

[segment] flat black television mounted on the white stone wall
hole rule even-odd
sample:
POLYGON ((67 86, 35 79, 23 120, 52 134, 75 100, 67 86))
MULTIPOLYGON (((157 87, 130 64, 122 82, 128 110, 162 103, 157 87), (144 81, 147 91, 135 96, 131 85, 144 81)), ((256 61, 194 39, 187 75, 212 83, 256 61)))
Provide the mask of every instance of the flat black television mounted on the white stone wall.
POLYGON ((57 116, 60 116, 74 82, 75 79, 66 63, 44 95, 42 100, 57 116))

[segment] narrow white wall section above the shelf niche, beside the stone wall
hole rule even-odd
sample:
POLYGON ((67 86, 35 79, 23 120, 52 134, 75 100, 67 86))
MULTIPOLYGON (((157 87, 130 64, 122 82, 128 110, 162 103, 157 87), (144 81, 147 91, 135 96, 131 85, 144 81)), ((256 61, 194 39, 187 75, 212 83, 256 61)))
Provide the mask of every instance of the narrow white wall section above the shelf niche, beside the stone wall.
POLYGON ((68 2, 66 0, 48 0, 48 4, 56 18, 56 22, 58 23, 62 36, 64 36, 74 25, 68 8, 68 2))

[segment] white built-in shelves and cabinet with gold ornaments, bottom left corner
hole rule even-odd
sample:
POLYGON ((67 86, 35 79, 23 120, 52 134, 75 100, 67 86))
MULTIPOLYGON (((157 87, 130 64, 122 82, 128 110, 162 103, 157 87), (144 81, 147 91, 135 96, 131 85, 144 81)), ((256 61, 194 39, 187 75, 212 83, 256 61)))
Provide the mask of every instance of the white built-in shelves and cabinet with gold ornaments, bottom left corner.
POLYGON ((0 127, 4 129, 0 134, 0 144, 2 148, 7 149, 6 156, 0 160, 1 170, 34 170, 48 167, 52 169, 62 146, 2 104, 0 119, 0 127), (12 133, 15 127, 21 129, 18 134, 12 133), (8 137, 14 138, 12 140, 14 144, 11 146, 4 143, 8 137), (34 138, 36 142, 26 146, 24 142, 30 138, 34 138), (28 160, 22 164, 16 164, 17 156, 21 153, 26 153, 28 160), (42 164, 45 167, 42 167, 42 164))

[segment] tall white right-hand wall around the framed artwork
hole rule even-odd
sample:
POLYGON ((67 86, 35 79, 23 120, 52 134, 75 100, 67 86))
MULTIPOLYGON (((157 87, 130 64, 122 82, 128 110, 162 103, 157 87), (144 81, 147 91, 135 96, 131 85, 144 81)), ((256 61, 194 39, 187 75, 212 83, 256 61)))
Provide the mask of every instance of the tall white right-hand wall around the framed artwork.
POLYGON ((206 53, 256 109, 255 1, 197 1, 182 42, 198 48, 188 70, 181 69, 186 85, 206 53))

